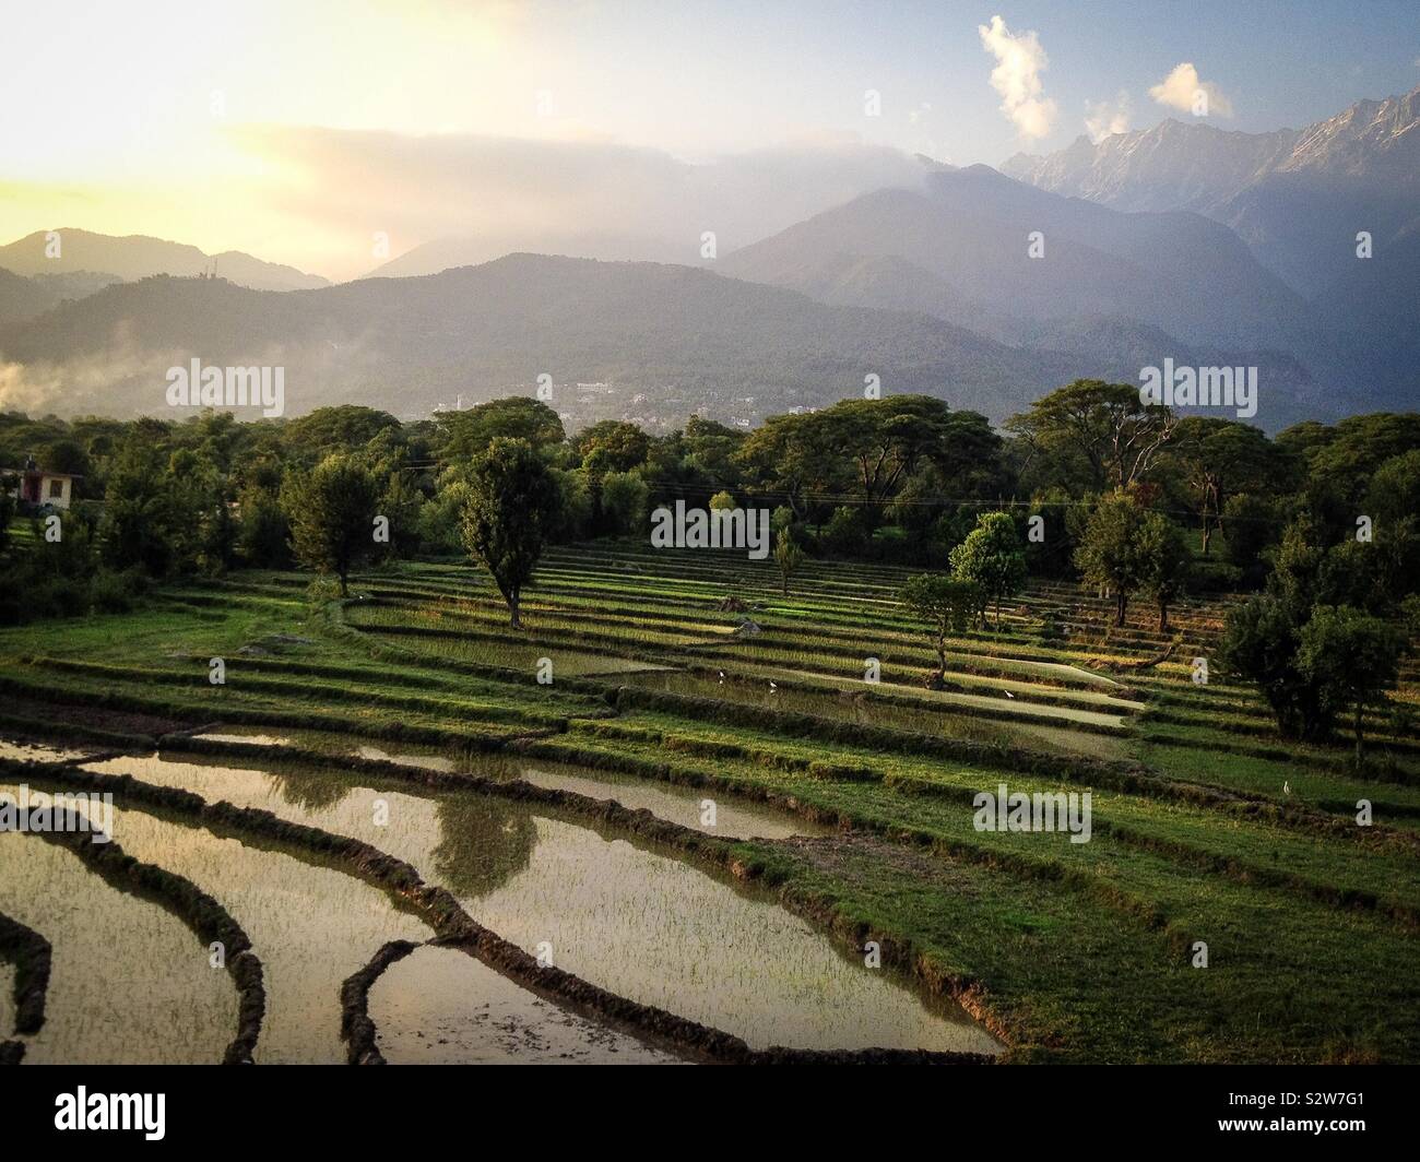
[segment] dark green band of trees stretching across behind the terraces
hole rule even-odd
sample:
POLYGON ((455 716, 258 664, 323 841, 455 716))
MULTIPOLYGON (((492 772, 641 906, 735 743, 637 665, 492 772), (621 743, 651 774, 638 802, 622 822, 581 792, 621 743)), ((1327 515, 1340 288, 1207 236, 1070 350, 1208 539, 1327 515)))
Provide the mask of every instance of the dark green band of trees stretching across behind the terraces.
POLYGON ((365 563, 467 554, 518 624, 544 544, 639 537, 676 500, 763 506, 785 592, 807 557, 920 567, 905 599, 943 636, 1000 622, 1027 577, 1108 591, 1118 625, 1146 597, 1163 631, 1184 592, 1251 591, 1223 661, 1287 732, 1315 736, 1358 705, 1325 672, 1363 658, 1393 675, 1416 614, 1416 413, 1268 438, 1085 379, 1001 430, 922 395, 669 435, 621 420, 569 435, 523 396, 417 422, 354 405, 258 422, 0 415, 0 467, 30 455, 81 479, 57 541, 41 514, 16 536, 27 514, 0 497, 10 622, 125 608, 172 577, 300 564, 344 591, 365 563))

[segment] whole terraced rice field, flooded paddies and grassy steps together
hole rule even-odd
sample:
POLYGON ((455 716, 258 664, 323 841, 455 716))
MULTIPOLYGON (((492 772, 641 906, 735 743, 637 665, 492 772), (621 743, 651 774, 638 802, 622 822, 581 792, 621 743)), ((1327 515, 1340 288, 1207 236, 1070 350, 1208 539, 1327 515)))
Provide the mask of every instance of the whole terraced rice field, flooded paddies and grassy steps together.
POLYGON ((809 563, 785 595, 771 563, 599 541, 544 555, 521 631, 453 561, 341 602, 239 572, 0 631, 0 788, 114 797, 101 854, 0 835, 0 1041, 1420 1060, 1413 659, 1362 777, 1196 680, 1227 598, 1160 634, 1032 582, 929 688, 905 578, 809 563), (1001 784, 1088 793, 1088 842, 978 830, 1001 784))

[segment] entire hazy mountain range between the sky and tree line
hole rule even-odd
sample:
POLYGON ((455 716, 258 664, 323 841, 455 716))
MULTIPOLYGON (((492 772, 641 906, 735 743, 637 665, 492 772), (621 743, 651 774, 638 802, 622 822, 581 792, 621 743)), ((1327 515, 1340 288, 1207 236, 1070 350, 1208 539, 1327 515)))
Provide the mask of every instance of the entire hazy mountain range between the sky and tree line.
POLYGON ((31 234, 0 247, 0 406, 162 413, 165 369, 200 358, 285 366, 290 413, 423 415, 547 374, 564 395, 596 385, 602 415, 753 423, 878 375, 1000 422, 1069 379, 1137 382, 1173 359, 1257 366, 1269 430, 1407 409, 1417 92, 1302 131, 1166 121, 1005 173, 923 159, 920 180, 699 267, 655 232, 598 223, 544 239, 589 257, 427 243, 338 286, 82 230, 58 232, 62 259, 47 259, 31 234), (666 257, 680 264, 646 261, 666 257))

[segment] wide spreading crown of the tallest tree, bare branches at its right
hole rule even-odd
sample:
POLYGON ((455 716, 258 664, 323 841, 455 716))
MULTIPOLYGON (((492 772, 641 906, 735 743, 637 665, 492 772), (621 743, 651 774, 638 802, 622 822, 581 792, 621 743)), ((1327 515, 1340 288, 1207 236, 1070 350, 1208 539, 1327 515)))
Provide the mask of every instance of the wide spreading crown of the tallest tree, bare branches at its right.
POLYGON ((1076 492, 1103 492, 1142 480, 1176 422, 1167 408, 1142 402, 1139 388, 1076 379, 1037 399, 1005 426, 1025 443, 1028 459, 1056 462, 1061 479, 1049 483, 1072 482, 1076 492))

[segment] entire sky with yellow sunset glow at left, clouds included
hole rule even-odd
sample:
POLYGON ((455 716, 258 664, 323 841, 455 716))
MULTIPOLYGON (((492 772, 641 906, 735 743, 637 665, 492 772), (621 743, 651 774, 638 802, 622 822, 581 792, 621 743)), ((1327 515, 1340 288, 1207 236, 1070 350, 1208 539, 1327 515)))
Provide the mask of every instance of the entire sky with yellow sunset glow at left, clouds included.
POLYGON ((1420 84, 1414 0, 3 4, 0 241, 148 233, 331 278, 378 233, 569 223, 567 185, 852 196, 897 151, 1000 165, 1198 91, 1261 132, 1420 84))

